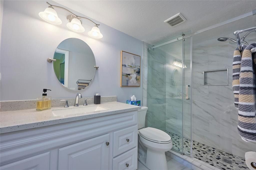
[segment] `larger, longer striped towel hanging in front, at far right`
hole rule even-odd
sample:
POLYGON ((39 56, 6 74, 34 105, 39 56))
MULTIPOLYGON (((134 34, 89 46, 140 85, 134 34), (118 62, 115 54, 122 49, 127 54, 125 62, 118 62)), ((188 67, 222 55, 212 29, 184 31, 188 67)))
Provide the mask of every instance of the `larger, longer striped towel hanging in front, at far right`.
POLYGON ((245 141, 256 142, 256 58, 251 53, 251 48, 256 43, 248 45, 242 53, 241 69, 239 75, 239 104, 238 104, 238 133, 245 141))

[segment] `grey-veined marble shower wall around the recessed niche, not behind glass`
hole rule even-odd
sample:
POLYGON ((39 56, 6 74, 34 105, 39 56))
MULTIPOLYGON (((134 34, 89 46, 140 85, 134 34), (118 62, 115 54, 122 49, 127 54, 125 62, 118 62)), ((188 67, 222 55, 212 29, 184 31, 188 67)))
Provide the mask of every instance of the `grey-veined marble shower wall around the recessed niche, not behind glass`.
MULTIPOLYGON (((238 111, 232 92, 232 60, 236 44, 207 40, 192 46, 193 69, 193 140, 244 157, 256 151, 256 144, 244 142, 237 132, 238 111), (209 42, 212 41, 212 45, 209 42), (229 69, 229 86, 203 86, 203 71, 229 69)), ((208 80, 221 83, 226 76, 209 75, 208 80)))

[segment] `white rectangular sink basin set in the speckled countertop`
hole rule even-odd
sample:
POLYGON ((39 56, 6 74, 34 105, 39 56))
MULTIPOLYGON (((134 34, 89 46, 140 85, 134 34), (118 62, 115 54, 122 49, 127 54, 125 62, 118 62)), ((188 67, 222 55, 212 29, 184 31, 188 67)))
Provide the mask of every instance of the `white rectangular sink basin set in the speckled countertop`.
POLYGON ((61 109, 52 110, 52 114, 54 116, 65 116, 65 115, 73 115, 73 114, 79 114, 79 113, 95 112, 100 110, 107 110, 107 108, 97 106, 97 105, 61 108, 61 109))

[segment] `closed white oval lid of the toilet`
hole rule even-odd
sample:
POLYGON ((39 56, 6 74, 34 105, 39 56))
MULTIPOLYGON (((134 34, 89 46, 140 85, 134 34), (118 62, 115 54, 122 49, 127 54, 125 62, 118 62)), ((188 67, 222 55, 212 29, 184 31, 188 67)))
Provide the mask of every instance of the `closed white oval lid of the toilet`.
POLYGON ((150 139, 156 142, 169 142, 171 137, 162 130, 147 127, 139 131, 140 135, 146 139, 150 139))

